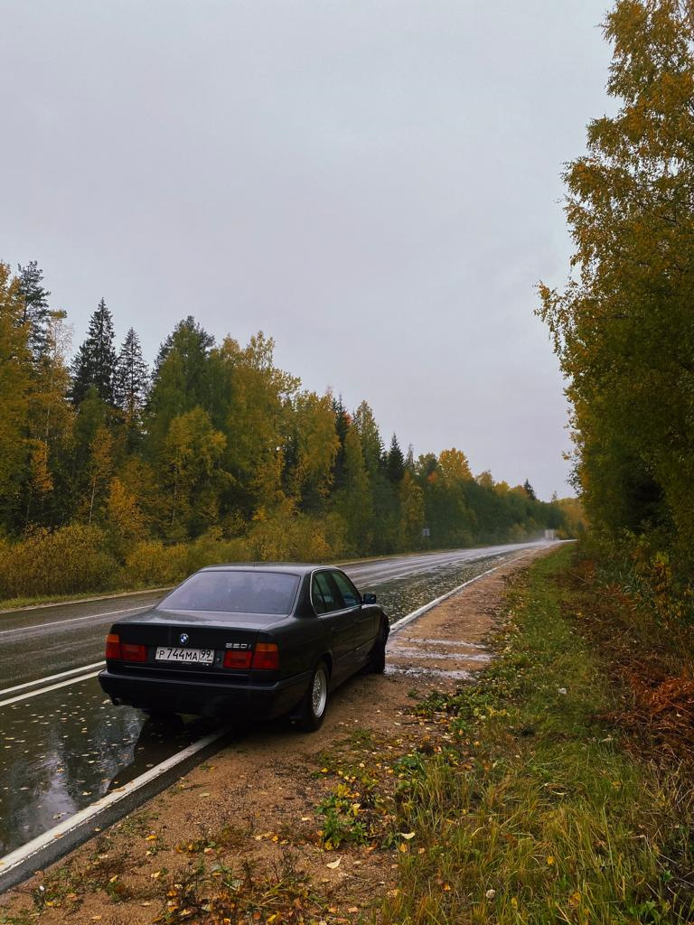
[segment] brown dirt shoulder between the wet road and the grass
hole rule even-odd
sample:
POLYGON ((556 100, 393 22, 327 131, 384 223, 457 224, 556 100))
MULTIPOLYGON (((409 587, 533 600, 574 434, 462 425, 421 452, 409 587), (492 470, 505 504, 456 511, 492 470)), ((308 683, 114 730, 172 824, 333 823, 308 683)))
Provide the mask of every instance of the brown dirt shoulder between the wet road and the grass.
POLYGON ((275 723, 239 734, 135 813, 0 897, 0 922, 3 915, 18 925, 213 920, 214 904, 200 896, 215 878, 231 876, 238 914, 215 921, 378 919, 383 897, 398 888, 398 852, 416 846, 404 833, 385 847, 369 837, 331 849, 317 808, 340 786, 358 805, 367 774, 387 788, 397 778, 393 761, 436 747, 436 729, 415 715, 417 699, 454 689, 485 666, 509 575, 543 551, 504 564, 393 635, 386 673, 357 676, 336 691, 317 733, 275 723))

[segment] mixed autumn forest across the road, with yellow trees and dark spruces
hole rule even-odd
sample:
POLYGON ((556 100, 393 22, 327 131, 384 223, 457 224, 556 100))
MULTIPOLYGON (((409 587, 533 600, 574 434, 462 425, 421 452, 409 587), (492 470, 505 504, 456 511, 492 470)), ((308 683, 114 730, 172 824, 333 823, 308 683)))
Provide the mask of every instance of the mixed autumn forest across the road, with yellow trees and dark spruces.
POLYGON ((279 369, 262 333, 192 316, 150 370, 104 300, 68 363, 40 267, 0 264, 0 595, 175 580, 208 561, 326 560, 576 530, 571 500, 388 447, 371 408, 279 369))

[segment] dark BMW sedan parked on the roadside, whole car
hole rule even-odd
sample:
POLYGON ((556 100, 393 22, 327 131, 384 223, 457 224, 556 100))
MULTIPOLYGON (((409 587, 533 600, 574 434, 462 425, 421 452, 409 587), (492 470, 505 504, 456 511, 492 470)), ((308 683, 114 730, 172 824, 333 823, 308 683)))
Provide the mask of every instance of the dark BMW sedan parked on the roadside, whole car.
POLYGON ((373 594, 319 565, 214 565, 114 623, 99 681, 115 704, 229 720, 323 722, 328 695, 382 672, 389 623, 373 594))

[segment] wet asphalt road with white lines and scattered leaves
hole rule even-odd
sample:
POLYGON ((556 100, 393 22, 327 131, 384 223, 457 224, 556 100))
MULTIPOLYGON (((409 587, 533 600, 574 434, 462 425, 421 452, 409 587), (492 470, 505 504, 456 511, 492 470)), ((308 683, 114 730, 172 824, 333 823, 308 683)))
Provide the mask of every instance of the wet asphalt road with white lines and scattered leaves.
MULTIPOLYGON (((345 571, 360 590, 378 592, 394 622, 535 545, 358 562, 345 571)), ((162 597, 0 613, 0 857, 214 728, 192 718, 167 727, 146 721, 138 710, 113 707, 96 677, 85 676, 101 667, 111 623, 162 597)))

